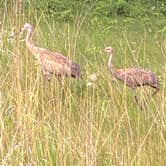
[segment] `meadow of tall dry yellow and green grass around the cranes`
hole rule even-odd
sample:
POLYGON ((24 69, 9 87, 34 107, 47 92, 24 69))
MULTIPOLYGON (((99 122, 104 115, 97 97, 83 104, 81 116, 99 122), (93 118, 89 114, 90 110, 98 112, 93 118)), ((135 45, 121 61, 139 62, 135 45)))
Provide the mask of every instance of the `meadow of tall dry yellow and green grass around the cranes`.
MULTIPOLYGON (((88 11, 89 12, 89 11, 88 11)), ((28 11, 2 15, 0 29, 0 165, 166 165, 166 20, 110 18, 57 22, 28 11), (44 80, 25 45, 24 23, 35 45, 78 62, 82 80, 44 80), (104 48, 117 67, 141 66, 160 79, 160 91, 131 90, 114 80, 104 48), (98 80, 86 86, 88 76, 98 80)))

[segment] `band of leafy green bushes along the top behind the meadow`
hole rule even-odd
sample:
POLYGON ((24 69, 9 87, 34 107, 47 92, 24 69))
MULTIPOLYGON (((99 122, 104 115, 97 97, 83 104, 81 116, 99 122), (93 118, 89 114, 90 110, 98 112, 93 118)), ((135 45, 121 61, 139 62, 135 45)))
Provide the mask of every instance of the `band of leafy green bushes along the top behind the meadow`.
POLYGON ((77 13, 82 9, 86 12, 90 6, 93 6, 89 13, 91 17, 166 15, 164 0, 25 0, 24 6, 61 21, 73 20, 77 13))

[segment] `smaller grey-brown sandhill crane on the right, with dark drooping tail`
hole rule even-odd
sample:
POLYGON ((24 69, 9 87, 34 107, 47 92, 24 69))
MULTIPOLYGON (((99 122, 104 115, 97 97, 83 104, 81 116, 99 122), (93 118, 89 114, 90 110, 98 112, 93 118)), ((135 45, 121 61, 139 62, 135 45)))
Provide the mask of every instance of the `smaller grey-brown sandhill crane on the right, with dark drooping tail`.
MULTIPOLYGON (((115 78, 122 81, 133 90, 140 86, 151 86, 152 88, 156 89, 152 96, 155 95, 157 91, 159 91, 159 80, 157 76, 150 70, 132 67, 125 69, 114 68, 112 65, 112 47, 107 47, 104 51, 109 53, 108 69, 111 71, 115 78)), ((134 96, 136 102, 138 103, 136 95, 134 96)))

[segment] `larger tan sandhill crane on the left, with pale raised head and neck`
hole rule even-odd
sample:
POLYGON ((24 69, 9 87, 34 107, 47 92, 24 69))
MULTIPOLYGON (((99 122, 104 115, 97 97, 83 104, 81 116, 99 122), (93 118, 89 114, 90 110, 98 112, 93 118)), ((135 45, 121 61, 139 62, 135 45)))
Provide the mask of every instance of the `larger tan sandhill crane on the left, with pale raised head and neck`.
POLYGON ((25 30, 27 31, 26 46, 38 60, 47 80, 50 80, 51 75, 55 75, 59 80, 61 77, 81 78, 80 66, 77 63, 60 53, 34 46, 30 42, 33 27, 29 23, 25 23, 21 31, 25 30))

